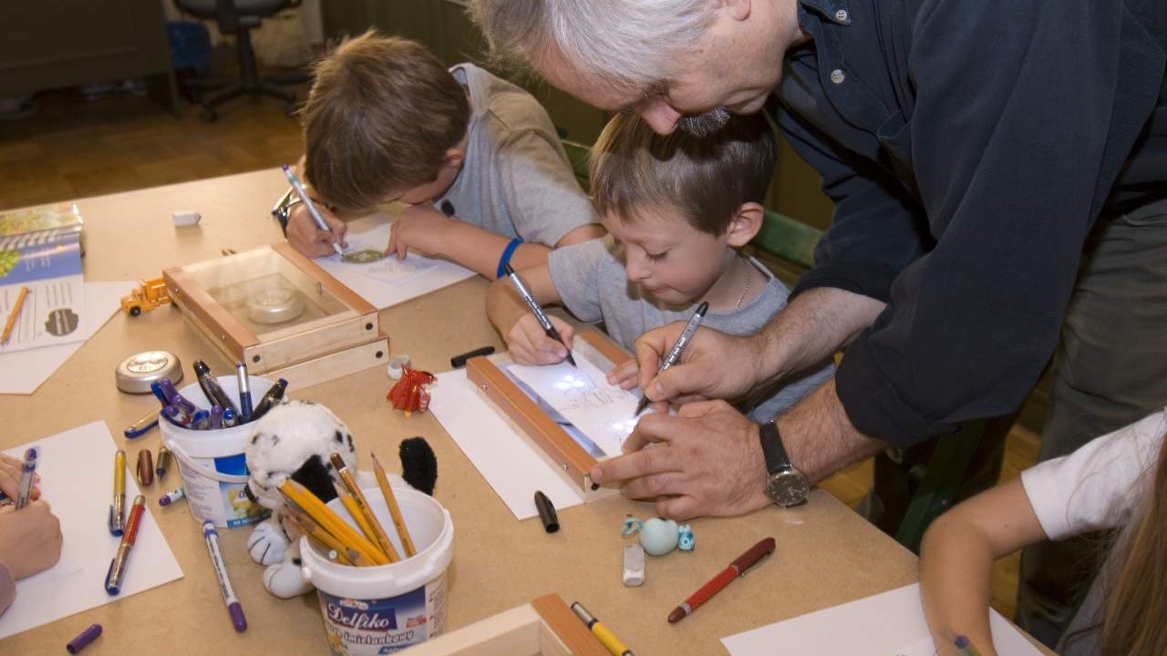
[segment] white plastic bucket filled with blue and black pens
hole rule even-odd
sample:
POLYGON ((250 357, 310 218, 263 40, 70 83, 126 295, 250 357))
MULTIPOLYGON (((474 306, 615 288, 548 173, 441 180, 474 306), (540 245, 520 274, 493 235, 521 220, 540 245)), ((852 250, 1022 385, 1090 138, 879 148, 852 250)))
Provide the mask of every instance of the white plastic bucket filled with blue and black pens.
MULTIPOLYGON (((228 396, 239 398, 239 384, 235 376, 218 376, 216 379, 228 396)), ((249 376, 247 381, 253 404, 259 403, 274 384, 257 376, 249 376)), ((198 383, 182 388, 179 393, 201 409, 209 410, 211 406, 198 383)), ((267 509, 253 503, 243 491, 247 484, 247 465, 243 449, 247 446, 254 425, 191 431, 175 426, 165 417, 159 418, 158 425, 162 430, 166 448, 179 461, 187 507, 195 521, 200 524, 214 522, 223 529, 254 524, 267 516, 267 509)))

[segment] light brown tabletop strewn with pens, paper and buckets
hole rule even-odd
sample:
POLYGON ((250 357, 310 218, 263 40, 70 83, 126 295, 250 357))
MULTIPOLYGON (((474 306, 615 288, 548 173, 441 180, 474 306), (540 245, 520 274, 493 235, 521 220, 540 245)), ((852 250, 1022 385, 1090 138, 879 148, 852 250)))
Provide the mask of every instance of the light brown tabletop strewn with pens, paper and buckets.
MULTIPOLYGON (((167 266, 217 258, 221 249, 243 251, 274 242, 280 232, 267 212, 286 186, 280 172, 271 169, 78 201, 86 221, 85 278, 154 278, 167 266), (179 209, 202 212, 200 226, 175 229, 170 212, 179 209)), ((383 312, 391 351, 408 354, 417 365, 436 372, 449 368, 452 355, 485 344, 501 348, 483 313, 485 288, 485 280, 474 278, 383 312)), ((214 370, 230 370, 231 363, 204 343, 177 310, 163 307, 137 319, 119 313, 35 395, 0 397, 5 423, 0 448, 104 419, 131 462, 139 449, 156 449, 156 431, 135 441, 121 437, 121 430, 156 402, 149 395, 121 393, 113 381, 118 362, 147 349, 177 354, 191 379, 189 367, 196 358, 207 360, 214 370)), ((407 419, 391 411, 385 402, 389 385, 384 369, 376 368, 291 390, 291 396, 323 403, 348 423, 363 467, 370 449, 386 465, 397 463, 397 446, 404 438, 424 435, 433 445, 439 468, 435 497, 449 509, 455 525, 448 629, 554 592, 568 602, 584 602, 641 656, 721 654, 724 636, 917 579, 910 552, 831 495, 815 490, 801 509, 771 508, 734 519, 693 522, 696 552, 649 558, 644 586, 624 587, 621 524, 627 514, 651 516, 651 505, 612 496, 561 510, 562 529, 550 536, 538 519, 517 522, 432 414, 407 419), (675 626, 665 622, 678 602, 767 536, 777 539, 774 558, 692 617, 675 626)), ((167 477, 167 488, 176 483, 176 477, 167 477)), ((327 654, 316 596, 285 601, 264 591, 263 567, 246 553, 250 528, 221 531, 250 624, 246 633, 236 634, 198 525, 184 503, 160 509, 155 500, 162 491, 155 483, 147 488, 147 497, 184 578, 0 641, 0 652, 63 652, 70 638, 98 622, 105 633, 86 649, 88 656, 327 654)), ((68 526, 64 531, 69 539, 68 526)), ((106 546, 112 553, 113 544, 106 546)))

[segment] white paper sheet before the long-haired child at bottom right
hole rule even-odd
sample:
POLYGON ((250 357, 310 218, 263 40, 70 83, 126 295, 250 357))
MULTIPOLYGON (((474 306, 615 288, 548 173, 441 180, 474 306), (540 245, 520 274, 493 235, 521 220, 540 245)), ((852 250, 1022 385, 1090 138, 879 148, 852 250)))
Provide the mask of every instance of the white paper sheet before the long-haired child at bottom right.
MULTIPOLYGON (((1041 655, 995 610, 990 613, 990 627, 1001 656, 1041 655)), ((799 656, 936 654, 920 605, 920 584, 724 637, 721 644, 732 656, 769 656, 778 644, 781 651, 799 656)))

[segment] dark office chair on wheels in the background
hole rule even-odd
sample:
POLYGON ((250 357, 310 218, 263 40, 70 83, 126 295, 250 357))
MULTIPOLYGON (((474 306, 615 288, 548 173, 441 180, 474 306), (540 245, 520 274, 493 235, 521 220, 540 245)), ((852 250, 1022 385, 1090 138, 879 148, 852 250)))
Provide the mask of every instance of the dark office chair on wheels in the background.
POLYGON ((200 118, 207 123, 218 119, 215 107, 244 93, 251 96, 271 96, 284 100, 284 110, 291 116, 295 112, 295 93, 280 89, 279 84, 299 84, 307 82, 308 76, 298 72, 291 75, 260 77, 256 67, 256 51, 251 47, 250 30, 259 22, 288 7, 300 5, 300 0, 174 0, 174 6, 202 20, 215 20, 219 33, 235 34, 236 49, 239 55, 239 78, 230 82, 203 81, 200 86, 218 86, 202 100, 200 118))

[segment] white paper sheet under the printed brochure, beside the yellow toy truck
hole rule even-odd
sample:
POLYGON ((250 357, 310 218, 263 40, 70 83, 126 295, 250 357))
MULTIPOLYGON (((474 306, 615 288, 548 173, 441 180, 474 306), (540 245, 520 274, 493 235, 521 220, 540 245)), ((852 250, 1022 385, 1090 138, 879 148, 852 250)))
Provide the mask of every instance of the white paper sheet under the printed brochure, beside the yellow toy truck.
MULTIPOLYGON (((134 288, 134 282, 85 282, 85 329, 88 340, 105 326, 120 307, 121 296, 134 288)), ((41 386, 85 342, 57 344, 27 351, 0 355, 0 395, 30 395, 41 386)))

